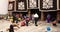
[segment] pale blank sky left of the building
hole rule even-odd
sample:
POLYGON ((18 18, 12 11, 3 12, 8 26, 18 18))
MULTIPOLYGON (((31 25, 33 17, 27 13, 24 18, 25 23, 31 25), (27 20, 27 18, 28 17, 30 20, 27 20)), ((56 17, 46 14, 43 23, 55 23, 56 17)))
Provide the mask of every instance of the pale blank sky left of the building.
POLYGON ((0 15, 8 14, 8 0, 0 0, 0 15))

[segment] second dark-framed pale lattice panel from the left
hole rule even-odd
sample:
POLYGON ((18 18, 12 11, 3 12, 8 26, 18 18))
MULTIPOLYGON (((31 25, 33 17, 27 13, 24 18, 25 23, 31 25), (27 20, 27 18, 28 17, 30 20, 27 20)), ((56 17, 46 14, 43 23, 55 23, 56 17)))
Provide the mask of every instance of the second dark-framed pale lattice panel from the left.
POLYGON ((16 10, 17 11, 26 11, 27 10, 26 0, 18 0, 16 3, 16 10))

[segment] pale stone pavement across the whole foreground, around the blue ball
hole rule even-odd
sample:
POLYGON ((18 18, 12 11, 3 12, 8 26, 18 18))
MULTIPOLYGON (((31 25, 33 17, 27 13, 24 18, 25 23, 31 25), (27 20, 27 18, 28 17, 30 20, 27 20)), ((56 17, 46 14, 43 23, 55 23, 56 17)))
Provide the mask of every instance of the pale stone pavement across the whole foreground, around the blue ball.
MULTIPOLYGON (((8 32, 6 31, 6 29, 9 28, 10 24, 11 23, 9 21, 0 20, 0 31, 8 32)), ((54 27, 52 26, 51 23, 48 24, 45 21, 39 21, 38 26, 35 26, 33 23, 29 23, 29 26, 20 27, 18 30, 15 30, 15 32, 45 32, 47 26, 51 27, 50 32, 55 32, 55 31, 60 32, 60 24, 57 24, 57 25, 58 25, 57 27, 54 27)))

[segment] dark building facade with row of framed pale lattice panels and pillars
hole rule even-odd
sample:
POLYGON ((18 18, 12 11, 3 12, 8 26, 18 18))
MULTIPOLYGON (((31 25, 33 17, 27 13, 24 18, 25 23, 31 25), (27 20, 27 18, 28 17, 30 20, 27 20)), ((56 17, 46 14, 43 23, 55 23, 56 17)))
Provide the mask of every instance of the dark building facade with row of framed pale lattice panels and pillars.
POLYGON ((60 0, 9 0, 9 15, 12 13, 38 13, 40 20, 46 20, 49 13, 51 19, 60 19, 60 0))

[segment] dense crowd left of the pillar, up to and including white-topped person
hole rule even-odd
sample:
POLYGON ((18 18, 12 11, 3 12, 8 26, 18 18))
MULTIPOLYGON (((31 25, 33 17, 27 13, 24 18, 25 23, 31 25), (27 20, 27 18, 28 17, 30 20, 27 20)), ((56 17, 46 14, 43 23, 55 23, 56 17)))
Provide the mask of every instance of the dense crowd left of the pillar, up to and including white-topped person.
POLYGON ((19 22, 25 22, 25 25, 28 26, 28 22, 30 20, 35 20, 35 26, 37 26, 37 21, 38 21, 38 14, 35 13, 35 14, 32 14, 32 15, 22 15, 22 14, 14 14, 13 16, 11 16, 9 18, 9 20, 12 22, 12 23, 19 23, 19 22), (24 21, 25 20, 25 21, 24 21))

